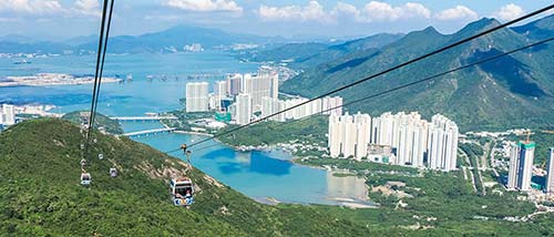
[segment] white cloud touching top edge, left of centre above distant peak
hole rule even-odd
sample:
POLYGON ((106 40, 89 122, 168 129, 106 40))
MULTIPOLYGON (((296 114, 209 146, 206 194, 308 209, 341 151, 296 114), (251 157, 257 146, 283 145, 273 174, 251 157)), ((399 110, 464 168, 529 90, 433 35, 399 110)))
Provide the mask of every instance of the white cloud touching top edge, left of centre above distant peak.
POLYGON ((239 7, 233 0, 167 0, 166 6, 178 8, 188 11, 230 11, 230 12, 243 12, 243 8, 239 7))

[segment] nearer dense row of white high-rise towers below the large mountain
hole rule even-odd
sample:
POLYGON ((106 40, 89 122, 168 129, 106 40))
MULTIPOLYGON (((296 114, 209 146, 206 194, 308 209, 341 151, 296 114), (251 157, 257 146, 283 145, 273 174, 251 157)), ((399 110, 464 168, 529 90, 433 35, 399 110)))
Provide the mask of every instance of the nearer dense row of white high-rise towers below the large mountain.
POLYGON ((459 130, 454 122, 437 114, 431 122, 413 113, 331 114, 328 147, 331 157, 453 171, 459 130))

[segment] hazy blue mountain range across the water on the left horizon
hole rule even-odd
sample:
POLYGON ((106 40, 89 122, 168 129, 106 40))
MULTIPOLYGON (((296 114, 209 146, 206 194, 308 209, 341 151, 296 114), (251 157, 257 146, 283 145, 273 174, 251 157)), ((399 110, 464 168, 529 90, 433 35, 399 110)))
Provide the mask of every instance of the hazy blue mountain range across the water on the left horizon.
MULTIPOLYGON (((0 38, 0 53, 62 53, 95 52, 98 35, 79 37, 64 42, 35 42, 27 38, 8 35, 0 38)), ((177 25, 165 31, 147 33, 137 37, 120 35, 110 38, 109 52, 174 52, 183 51, 187 44, 199 43, 205 49, 229 48, 233 44, 266 44, 286 42, 278 37, 257 37, 252 34, 229 33, 222 30, 177 25)))

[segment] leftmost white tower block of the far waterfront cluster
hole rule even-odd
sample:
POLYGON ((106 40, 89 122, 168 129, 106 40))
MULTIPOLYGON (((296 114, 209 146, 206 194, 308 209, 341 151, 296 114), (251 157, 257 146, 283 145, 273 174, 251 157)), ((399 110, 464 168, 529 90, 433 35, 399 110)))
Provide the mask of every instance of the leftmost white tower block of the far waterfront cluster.
POLYGON ((186 112, 206 112, 209 110, 208 83, 186 83, 186 112))

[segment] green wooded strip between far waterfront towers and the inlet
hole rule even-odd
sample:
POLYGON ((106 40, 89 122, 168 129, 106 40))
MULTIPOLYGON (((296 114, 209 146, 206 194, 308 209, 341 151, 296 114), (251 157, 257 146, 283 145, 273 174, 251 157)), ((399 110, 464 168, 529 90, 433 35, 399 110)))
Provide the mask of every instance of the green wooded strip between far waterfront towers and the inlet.
MULTIPOLYGON (((278 143, 289 143, 297 141, 300 144, 318 144, 325 146, 327 137, 327 116, 314 116, 288 123, 261 122, 253 126, 234 132, 230 135, 222 136, 219 140, 233 146, 261 146, 276 145, 278 143)), ((233 130, 229 126, 222 130, 225 133, 233 130)))

